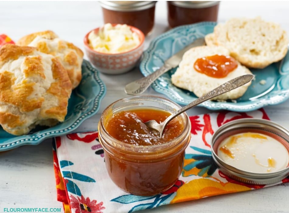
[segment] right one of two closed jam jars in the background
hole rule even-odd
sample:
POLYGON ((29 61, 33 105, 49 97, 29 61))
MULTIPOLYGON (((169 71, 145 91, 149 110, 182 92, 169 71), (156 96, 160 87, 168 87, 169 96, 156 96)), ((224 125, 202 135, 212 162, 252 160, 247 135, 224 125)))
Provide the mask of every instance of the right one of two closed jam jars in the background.
POLYGON ((170 27, 218 19, 219 1, 168 1, 170 27))

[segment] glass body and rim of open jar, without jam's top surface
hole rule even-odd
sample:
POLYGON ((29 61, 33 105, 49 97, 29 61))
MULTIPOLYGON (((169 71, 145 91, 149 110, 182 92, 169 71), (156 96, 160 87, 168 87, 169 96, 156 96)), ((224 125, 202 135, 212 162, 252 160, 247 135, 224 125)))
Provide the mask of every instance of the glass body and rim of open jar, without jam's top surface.
POLYGON ((134 109, 156 109, 173 113, 181 107, 158 96, 130 96, 110 104, 102 113, 98 131, 107 172, 120 189, 135 195, 154 195, 172 187, 178 180, 190 142, 191 124, 186 113, 178 116, 183 131, 159 145, 131 145, 118 141, 106 131, 113 114, 134 109))

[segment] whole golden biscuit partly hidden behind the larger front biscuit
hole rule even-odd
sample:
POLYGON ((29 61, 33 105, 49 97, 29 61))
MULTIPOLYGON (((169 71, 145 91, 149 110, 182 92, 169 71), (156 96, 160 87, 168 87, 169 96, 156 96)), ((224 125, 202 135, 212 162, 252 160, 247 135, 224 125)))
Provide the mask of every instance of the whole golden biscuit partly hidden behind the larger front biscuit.
POLYGON ((83 52, 73 44, 58 38, 53 31, 32 33, 19 39, 16 44, 37 47, 39 51, 57 57, 67 71, 73 89, 80 83, 83 52))

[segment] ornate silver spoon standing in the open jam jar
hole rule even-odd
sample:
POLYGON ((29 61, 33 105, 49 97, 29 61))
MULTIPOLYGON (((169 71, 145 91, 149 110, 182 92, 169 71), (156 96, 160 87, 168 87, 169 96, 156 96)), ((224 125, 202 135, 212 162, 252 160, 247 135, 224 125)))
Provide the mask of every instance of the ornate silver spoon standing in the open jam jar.
POLYGON ((242 75, 235 79, 232 79, 221 86, 218 86, 217 88, 211 90, 207 94, 201 96, 200 98, 194 100, 190 104, 182 107, 180 110, 176 111, 175 113, 172 113, 169 117, 167 117, 163 122, 160 124, 156 122, 155 120, 149 120, 145 122, 145 125, 149 128, 155 129, 158 131, 160 137, 162 137, 162 134, 165 130, 166 125, 175 117, 177 117, 179 114, 185 112, 186 110, 192 108, 193 106, 197 106, 200 103, 203 103, 206 100, 209 100, 211 98, 214 98, 218 95, 221 95, 223 93, 226 93, 228 91, 231 91, 233 89, 236 89, 239 86, 242 86, 248 82, 250 82, 254 78, 254 75, 248 74, 248 75, 242 75))

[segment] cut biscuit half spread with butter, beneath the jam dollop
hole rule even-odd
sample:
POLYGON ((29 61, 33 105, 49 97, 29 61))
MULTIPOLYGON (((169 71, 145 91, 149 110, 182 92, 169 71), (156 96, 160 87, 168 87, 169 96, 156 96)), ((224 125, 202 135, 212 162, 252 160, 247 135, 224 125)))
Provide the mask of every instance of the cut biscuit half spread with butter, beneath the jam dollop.
MULTIPOLYGON (((238 61, 237 68, 235 68, 232 72, 229 72, 229 74, 224 78, 210 77, 203 73, 197 72, 194 69, 194 63, 198 58, 216 54, 228 56, 229 53, 230 52, 225 47, 220 46, 199 46, 191 48, 183 55, 183 59, 180 62, 179 67, 172 75, 172 83, 179 88, 187 89, 193 92, 197 97, 201 97, 212 89, 231 79, 245 74, 252 74, 249 69, 242 66, 238 61)), ((237 99, 246 92, 250 84, 251 82, 219 95, 211 100, 237 99)))

